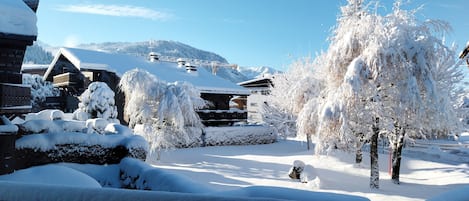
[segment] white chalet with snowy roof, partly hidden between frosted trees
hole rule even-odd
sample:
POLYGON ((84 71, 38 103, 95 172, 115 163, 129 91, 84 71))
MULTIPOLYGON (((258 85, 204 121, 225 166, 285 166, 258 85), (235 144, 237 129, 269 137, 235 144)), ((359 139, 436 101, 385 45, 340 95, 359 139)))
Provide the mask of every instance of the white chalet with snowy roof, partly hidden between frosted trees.
POLYGON ((251 91, 251 95, 247 97, 248 121, 262 123, 261 110, 263 105, 268 103, 267 95, 270 94, 270 88, 272 87, 272 77, 264 76, 240 82, 238 85, 251 91))

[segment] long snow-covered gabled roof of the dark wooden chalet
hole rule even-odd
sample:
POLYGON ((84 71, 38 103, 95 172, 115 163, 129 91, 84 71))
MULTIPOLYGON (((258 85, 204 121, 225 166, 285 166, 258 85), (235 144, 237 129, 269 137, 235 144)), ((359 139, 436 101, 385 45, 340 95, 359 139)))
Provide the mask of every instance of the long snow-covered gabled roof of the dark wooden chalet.
POLYGON ((76 48, 61 48, 54 58, 52 64, 49 66, 49 69, 45 73, 45 78, 49 76, 52 68, 54 67, 54 64, 61 55, 66 57, 80 71, 105 70, 122 76, 129 70, 140 68, 154 74, 156 77, 158 77, 158 79, 164 80, 166 82, 189 82, 204 93, 238 95, 250 94, 249 91, 243 87, 213 75, 211 72, 208 72, 201 67, 197 68, 196 72, 188 73, 186 68, 178 67, 176 62, 151 62, 137 56, 76 48))

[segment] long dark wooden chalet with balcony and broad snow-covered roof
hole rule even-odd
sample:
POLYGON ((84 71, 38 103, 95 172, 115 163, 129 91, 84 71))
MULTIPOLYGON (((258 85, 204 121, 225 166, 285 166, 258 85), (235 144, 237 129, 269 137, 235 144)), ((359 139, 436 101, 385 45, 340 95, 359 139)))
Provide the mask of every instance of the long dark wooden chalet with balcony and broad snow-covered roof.
MULTIPOLYGON (((72 111, 77 108, 77 97, 91 82, 106 82, 118 92, 120 76, 134 68, 141 68, 166 82, 185 81, 199 89, 201 97, 212 103, 208 108, 198 111, 205 125, 226 125, 247 120, 247 111, 231 109, 230 100, 248 96, 248 90, 204 68, 186 64, 183 60, 166 62, 158 59, 158 54, 150 56, 150 59, 145 60, 130 55, 61 48, 44 74, 44 79, 62 90, 66 100, 63 109, 72 111)), ((116 96, 120 115, 123 114, 123 100, 122 95, 116 96)), ((123 120, 122 116, 120 119, 123 120)))

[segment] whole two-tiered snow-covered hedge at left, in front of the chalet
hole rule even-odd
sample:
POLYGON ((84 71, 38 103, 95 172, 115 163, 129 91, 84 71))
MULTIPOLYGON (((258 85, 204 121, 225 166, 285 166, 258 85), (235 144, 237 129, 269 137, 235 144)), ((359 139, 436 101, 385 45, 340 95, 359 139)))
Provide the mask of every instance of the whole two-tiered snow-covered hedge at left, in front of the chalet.
POLYGON ((18 125, 16 169, 73 162, 117 164, 124 157, 146 159, 147 141, 120 124, 105 119, 64 120, 59 110, 26 116, 18 125))

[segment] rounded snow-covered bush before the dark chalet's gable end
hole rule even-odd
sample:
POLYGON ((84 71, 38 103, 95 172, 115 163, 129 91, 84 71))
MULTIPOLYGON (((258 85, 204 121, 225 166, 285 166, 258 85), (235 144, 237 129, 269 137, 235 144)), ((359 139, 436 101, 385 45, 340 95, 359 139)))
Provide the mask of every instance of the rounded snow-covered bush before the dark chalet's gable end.
MULTIPOLYGON (((117 119, 117 107, 114 100, 114 91, 104 82, 93 82, 88 89, 80 96, 80 103, 75 113, 85 112, 87 119, 102 118, 109 122, 119 122, 117 119)), ((77 120, 82 119, 81 115, 74 115, 77 120)))

